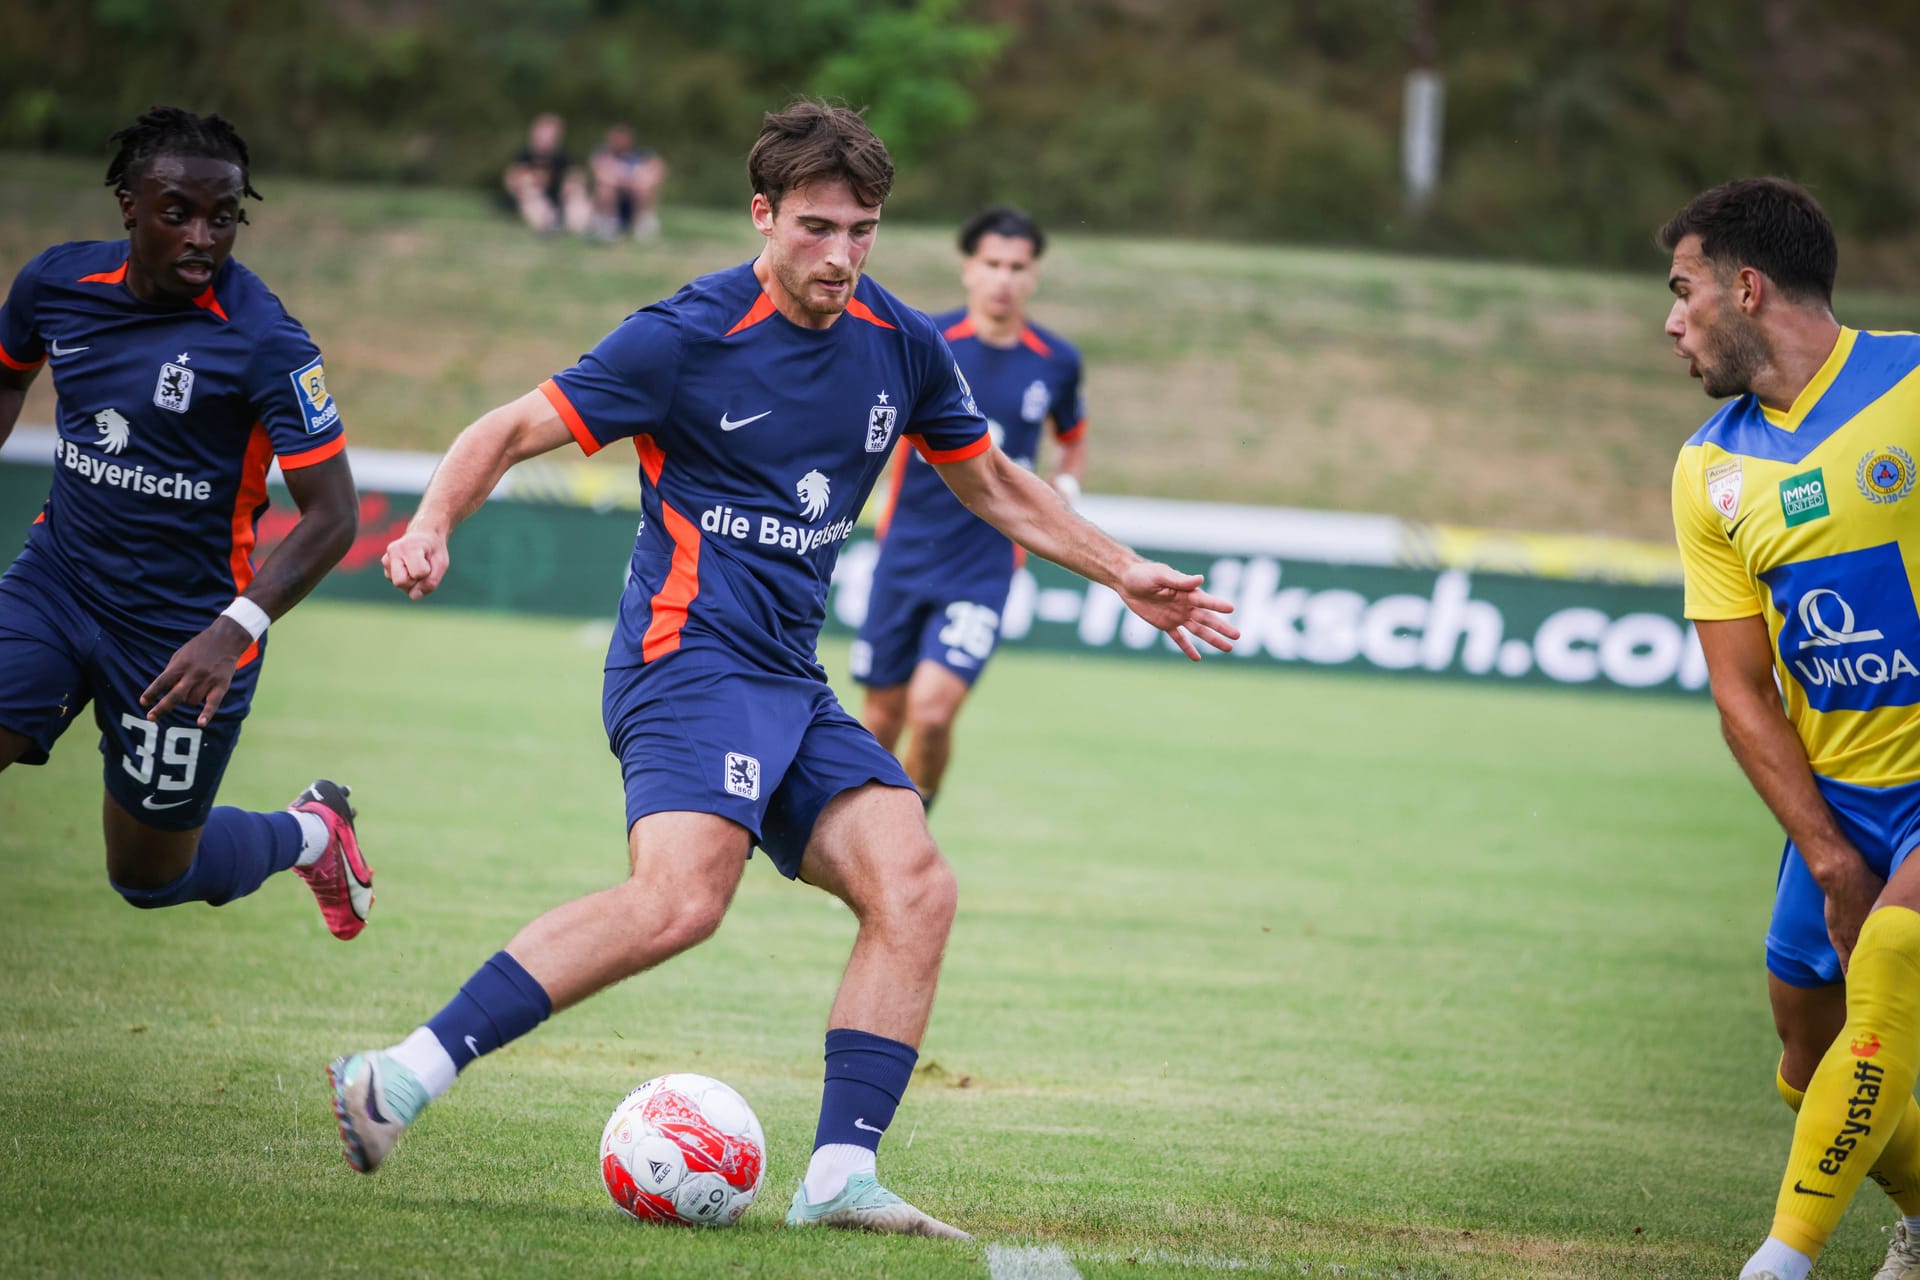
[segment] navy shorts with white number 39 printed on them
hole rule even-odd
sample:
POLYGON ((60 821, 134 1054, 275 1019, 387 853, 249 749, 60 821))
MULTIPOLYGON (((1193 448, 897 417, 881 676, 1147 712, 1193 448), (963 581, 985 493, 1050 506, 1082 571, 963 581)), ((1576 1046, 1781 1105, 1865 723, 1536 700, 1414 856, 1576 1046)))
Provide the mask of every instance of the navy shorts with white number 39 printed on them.
POLYGON ((27 739, 19 762, 46 764, 92 702, 108 794, 148 827, 205 825, 253 704, 261 660, 234 672, 205 729, 194 723, 200 708, 186 704, 150 722, 140 695, 180 643, 109 631, 54 574, 15 560, 0 576, 0 727, 27 739))

